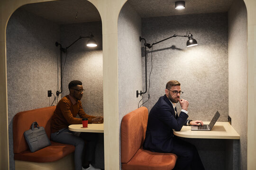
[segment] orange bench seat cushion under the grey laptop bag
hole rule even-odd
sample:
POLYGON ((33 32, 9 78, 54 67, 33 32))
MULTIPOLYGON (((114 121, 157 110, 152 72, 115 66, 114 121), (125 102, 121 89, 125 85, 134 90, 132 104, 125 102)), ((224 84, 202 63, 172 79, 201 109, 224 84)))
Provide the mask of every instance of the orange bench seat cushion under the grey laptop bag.
POLYGON ((73 153, 75 147, 71 144, 61 144, 51 141, 51 145, 40 149, 34 153, 29 150, 14 154, 15 160, 32 162, 52 162, 73 153))

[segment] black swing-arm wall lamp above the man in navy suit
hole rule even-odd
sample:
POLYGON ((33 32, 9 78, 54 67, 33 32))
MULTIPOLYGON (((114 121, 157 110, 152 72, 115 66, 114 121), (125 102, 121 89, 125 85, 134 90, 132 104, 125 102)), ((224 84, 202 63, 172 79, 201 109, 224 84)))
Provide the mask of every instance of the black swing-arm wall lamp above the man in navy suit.
MULTIPOLYGON (((159 42, 163 42, 163 41, 165 41, 165 40, 168 40, 168 39, 170 39, 170 38, 173 38, 173 37, 177 37, 177 36, 180 36, 180 37, 187 37, 188 38, 188 41, 187 41, 187 47, 192 47, 192 46, 194 46, 194 45, 197 45, 197 41, 195 40, 195 39, 193 39, 193 35, 190 33, 190 31, 187 31, 187 34, 186 35, 177 35, 177 34, 174 34, 173 36, 170 36, 170 37, 168 37, 168 38, 165 38, 164 40, 161 40, 161 41, 159 41, 159 42), (188 34, 188 32, 189 32, 189 34, 188 34)), ((146 43, 146 40, 144 39, 144 38, 141 38, 141 37, 139 37, 139 41, 141 41, 141 40, 144 40, 145 41, 145 43, 144 43, 144 46, 145 46, 145 72, 146 72, 146 47, 147 48, 152 48, 153 47, 153 45, 155 45, 155 44, 157 44, 157 43, 159 43, 159 42, 154 42, 154 43, 152 43, 152 44, 149 44, 149 43, 146 43)), ((147 77, 147 76, 146 76, 147 77)), ((145 77, 145 78, 146 78, 145 77)), ((147 78, 146 78, 146 91, 147 91, 147 78)), ((144 93, 146 93, 146 91, 145 92, 142 92, 142 91, 140 91, 140 93, 138 93, 138 90, 136 91, 136 96, 138 97, 138 95, 142 95, 142 94, 144 94, 144 93)))

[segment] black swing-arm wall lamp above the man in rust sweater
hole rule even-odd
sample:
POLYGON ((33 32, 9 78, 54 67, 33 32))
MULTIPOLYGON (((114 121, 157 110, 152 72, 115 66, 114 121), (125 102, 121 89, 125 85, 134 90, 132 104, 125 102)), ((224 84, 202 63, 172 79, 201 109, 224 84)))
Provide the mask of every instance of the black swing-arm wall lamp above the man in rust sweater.
MULTIPOLYGON (((69 47, 71 47, 75 42, 82 38, 89 38, 86 45, 88 47, 97 47, 97 42, 93 39, 93 34, 90 33, 88 36, 80 36, 77 40, 75 40, 73 43, 71 43, 68 47, 62 48, 62 45, 59 42, 55 42, 56 47, 60 45, 60 63, 61 63, 61 87, 60 90, 56 92, 56 95, 59 96, 60 93, 62 93, 62 78, 63 78, 63 68, 62 68, 62 52, 66 52, 69 47)), ((59 74, 59 73, 58 73, 59 74)))

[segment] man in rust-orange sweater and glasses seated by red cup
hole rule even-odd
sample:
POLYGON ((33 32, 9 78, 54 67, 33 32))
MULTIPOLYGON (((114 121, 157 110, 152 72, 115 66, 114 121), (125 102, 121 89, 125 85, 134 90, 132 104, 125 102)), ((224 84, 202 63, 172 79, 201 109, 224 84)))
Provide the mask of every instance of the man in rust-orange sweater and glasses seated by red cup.
POLYGON ((97 133, 81 133, 75 136, 68 130, 71 124, 82 124, 82 118, 88 123, 103 123, 102 117, 87 115, 82 109, 82 82, 73 80, 68 85, 69 95, 64 96, 57 104, 51 120, 51 140, 75 146, 75 170, 99 170, 91 166, 95 157, 95 146, 98 141, 97 133), (80 118, 76 118, 79 115, 80 118), (86 140, 86 145, 84 144, 86 140))

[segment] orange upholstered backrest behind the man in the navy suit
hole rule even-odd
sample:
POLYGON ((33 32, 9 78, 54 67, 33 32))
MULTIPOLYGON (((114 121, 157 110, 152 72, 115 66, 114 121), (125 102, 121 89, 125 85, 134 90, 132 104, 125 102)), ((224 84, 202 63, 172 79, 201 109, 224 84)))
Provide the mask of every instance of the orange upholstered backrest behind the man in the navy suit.
POLYGON ((142 146, 147 126, 148 112, 140 107, 125 115, 121 122, 121 162, 127 163, 142 146))

